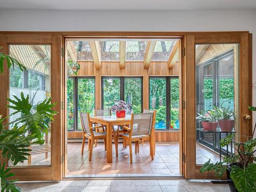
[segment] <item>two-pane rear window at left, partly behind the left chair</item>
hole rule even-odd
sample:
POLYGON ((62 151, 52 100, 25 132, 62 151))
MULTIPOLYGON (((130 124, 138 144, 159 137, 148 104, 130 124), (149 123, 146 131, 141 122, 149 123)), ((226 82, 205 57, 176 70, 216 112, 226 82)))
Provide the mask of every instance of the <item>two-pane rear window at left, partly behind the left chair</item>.
POLYGON ((94 115, 95 79, 94 77, 70 77, 67 84, 68 131, 82 131, 80 112, 94 115))

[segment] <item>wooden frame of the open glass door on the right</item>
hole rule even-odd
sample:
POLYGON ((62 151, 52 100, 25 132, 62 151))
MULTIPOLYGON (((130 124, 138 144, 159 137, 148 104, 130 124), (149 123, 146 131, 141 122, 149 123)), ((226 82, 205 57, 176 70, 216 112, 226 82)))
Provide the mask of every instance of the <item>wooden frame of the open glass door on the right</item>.
POLYGON ((184 110, 184 141, 185 141, 185 178, 214 179, 213 172, 200 173, 200 165, 196 165, 196 44, 239 44, 239 136, 252 135, 252 120, 244 120, 243 114, 252 114, 248 105, 252 104, 252 59, 251 34, 249 32, 214 33, 185 35, 186 55, 184 57, 184 90, 183 98, 186 103, 184 110), (243 127, 243 129, 241 129, 243 127), (191 147, 193 146, 193 147, 191 147))

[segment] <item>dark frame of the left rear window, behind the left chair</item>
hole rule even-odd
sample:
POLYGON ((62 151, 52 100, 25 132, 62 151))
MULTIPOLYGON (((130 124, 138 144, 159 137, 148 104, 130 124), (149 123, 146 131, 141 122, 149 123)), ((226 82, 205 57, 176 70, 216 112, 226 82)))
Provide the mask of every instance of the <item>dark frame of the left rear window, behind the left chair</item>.
POLYGON ((82 130, 78 130, 78 79, 93 79, 94 80, 94 109, 95 109, 95 76, 71 76, 68 78, 73 79, 73 129, 68 130, 68 132, 81 132, 82 130))

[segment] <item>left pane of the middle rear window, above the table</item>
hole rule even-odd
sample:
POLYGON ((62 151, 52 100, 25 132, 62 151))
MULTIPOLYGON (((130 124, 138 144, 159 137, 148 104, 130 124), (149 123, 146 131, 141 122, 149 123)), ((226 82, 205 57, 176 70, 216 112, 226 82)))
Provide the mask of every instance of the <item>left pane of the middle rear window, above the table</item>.
POLYGON ((103 78, 103 109, 110 109, 120 100, 120 79, 103 78))

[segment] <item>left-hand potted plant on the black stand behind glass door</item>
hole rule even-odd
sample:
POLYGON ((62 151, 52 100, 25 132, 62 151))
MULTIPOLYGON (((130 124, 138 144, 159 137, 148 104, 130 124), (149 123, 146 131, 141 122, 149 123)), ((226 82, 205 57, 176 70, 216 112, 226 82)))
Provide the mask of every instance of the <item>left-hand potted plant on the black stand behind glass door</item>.
POLYGON ((204 130, 207 131, 216 131, 218 122, 216 113, 212 110, 209 110, 205 113, 205 111, 201 110, 200 113, 197 113, 197 119, 201 121, 204 130))

